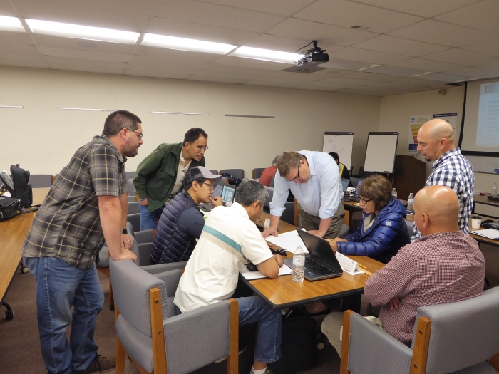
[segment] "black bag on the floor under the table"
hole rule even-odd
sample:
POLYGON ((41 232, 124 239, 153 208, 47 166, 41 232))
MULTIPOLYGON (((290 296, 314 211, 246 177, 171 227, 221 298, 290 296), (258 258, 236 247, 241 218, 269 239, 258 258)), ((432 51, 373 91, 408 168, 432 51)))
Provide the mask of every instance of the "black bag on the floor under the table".
POLYGON ((312 317, 282 320, 281 358, 269 363, 274 373, 292 374, 317 366, 317 323, 312 317))

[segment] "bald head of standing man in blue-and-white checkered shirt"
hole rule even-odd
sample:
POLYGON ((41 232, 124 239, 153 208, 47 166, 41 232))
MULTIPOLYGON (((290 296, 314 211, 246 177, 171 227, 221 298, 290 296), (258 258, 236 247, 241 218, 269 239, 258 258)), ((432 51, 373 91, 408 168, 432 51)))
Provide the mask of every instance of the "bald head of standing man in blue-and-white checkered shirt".
POLYGON ((448 150, 456 148, 454 129, 441 119, 429 120, 418 131, 418 151, 426 161, 438 160, 448 150))

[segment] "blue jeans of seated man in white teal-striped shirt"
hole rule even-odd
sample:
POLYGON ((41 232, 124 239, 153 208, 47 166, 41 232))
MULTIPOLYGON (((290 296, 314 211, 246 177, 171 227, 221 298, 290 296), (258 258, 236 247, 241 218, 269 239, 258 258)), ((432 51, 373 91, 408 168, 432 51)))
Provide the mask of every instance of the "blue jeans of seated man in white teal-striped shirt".
POLYGON ((236 298, 239 303, 239 323, 257 322, 257 342, 254 360, 273 363, 281 358, 282 311, 274 309, 259 296, 236 298))

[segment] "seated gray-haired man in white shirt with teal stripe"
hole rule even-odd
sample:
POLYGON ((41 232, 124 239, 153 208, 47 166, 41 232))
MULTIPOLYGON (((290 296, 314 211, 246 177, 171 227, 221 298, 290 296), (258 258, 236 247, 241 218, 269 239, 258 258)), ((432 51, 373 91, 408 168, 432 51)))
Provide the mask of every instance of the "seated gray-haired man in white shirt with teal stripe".
MULTIPOLYGON (((175 293, 173 302, 180 312, 231 298, 248 260, 264 276, 277 278, 282 256, 272 255, 254 224, 267 197, 262 184, 249 180, 237 188, 231 207, 212 209, 175 293)), ((236 300, 240 324, 258 323, 251 374, 272 374, 267 363, 281 357, 282 312, 259 296, 236 300)))

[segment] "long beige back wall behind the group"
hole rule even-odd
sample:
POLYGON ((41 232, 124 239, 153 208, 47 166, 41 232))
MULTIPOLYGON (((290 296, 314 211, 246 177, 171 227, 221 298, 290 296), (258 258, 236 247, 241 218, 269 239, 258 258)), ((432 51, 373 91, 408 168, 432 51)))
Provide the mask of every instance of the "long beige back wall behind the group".
POLYGON ((324 131, 353 131, 352 165, 364 163, 367 133, 379 127, 380 99, 338 93, 225 83, 168 80, 0 66, 0 169, 11 164, 55 175, 73 152, 101 133, 106 112, 68 108, 126 109, 143 120, 144 144, 128 160, 140 160, 162 142, 181 142, 185 131, 209 135, 207 167, 267 167, 284 150, 321 150, 324 131), (159 115, 151 110, 210 113, 159 115), (274 115, 275 119, 225 114, 274 115))

